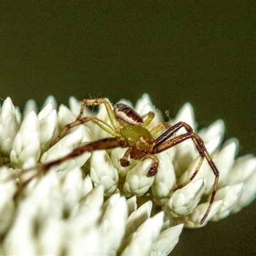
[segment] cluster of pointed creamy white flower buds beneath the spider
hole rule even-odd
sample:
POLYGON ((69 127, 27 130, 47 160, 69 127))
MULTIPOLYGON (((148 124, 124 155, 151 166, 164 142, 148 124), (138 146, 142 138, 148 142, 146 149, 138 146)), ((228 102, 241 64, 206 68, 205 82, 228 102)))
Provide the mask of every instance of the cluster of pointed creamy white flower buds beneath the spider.
MULTIPOLYGON (((122 102, 132 106, 127 100, 122 102)), ((38 114, 35 101, 29 100, 21 115, 10 98, 4 101, 0 110, 1 254, 168 255, 183 225, 202 227, 214 184, 209 164, 204 160, 195 178, 173 191, 189 180, 200 161, 191 140, 157 154, 154 177, 147 176, 151 158, 129 159, 128 166, 121 166, 127 148, 66 157, 84 143, 113 137, 88 122, 67 129, 49 147, 63 127, 76 120, 80 108, 81 102, 71 97, 70 108, 60 105, 57 111, 56 101, 48 97, 38 114), (52 163, 47 165, 50 170, 44 168, 48 163, 52 163), (31 182, 25 186, 27 181, 31 182)), ((147 94, 134 109, 142 116, 150 111, 156 114, 149 131, 163 122, 147 94)), ((83 116, 95 116, 111 125, 104 104, 97 113, 85 107, 83 116)), ((185 104, 170 124, 179 121, 196 131, 191 104, 185 104)), ((256 196, 256 158, 236 157, 238 142, 234 139, 221 147, 224 129, 223 121, 217 120, 197 132, 220 172, 203 225, 240 211, 256 196)), ((172 138, 185 132, 180 129, 172 138)), ((162 133, 157 132, 155 138, 162 133)))

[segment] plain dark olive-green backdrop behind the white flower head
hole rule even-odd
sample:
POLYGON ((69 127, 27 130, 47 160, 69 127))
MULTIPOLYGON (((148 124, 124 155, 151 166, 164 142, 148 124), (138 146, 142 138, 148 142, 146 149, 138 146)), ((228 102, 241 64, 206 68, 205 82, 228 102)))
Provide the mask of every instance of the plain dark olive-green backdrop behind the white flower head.
MULTIPOLYGON (((255 11, 255 1, 1 1, 0 97, 23 108, 147 92, 170 116, 189 101, 200 127, 222 118, 239 154, 256 154, 255 11)), ((172 255, 255 254, 255 209, 184 230, 172 255)))

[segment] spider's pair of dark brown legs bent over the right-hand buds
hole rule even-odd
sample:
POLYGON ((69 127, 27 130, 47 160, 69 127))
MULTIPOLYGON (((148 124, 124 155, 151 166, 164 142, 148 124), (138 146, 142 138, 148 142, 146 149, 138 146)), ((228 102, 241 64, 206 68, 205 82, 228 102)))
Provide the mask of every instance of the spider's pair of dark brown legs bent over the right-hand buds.
POLYGON ((201 156, 201 159, 200 159, 200 162, 198 163, 198 166, 196 167, 195 172, 190 177, 190 179, 187 182, 184 182, 183 184, 178 186, 174 190, 180 189, 180 188, 186 186, 189 182, 191 182, 191 180, 194 179, 196 173, 198 173, 200 166, 202 165, 202 162, 204 161, 204 158, 206 158, 207 162, 209 163, 209 166, 211 167, 212 172, 215 175, 215 179, 214 179, 214 186, 212 189, 212 195, 211 195, 211 199, 209 202, 209 206, 208 206, 207 211, 205 212, 202 220, 200 221, 200 224, 202 224, 202 223, 204 223, 205 219, 207 218, 207 216, 211 210, 212 203, 213 203, 214 197, 216 195, 216 190, 217 190, 218 180, 219 180, 218 169, 217 169, 216 165, 214 164, 214 162, 212 161, 211 156, 207 152, 207 149, 205 148, 204 141, 202 140, 202 138, 200 138, 200 136, 195 134, 193 132, 193 129, 188 124, 186 124, 184 122, 179 122, 179 123, 173 125, 172 127, 170 127, 170 129, 168 129, 166 132, 164 132, 161 136, 159 136, 156 139, 156 145, 154 146, 154 148, 152 150, 152 154, 157 154, 157 153, 163 152, 164 150, 174 147, 175 145, 178 145, 182 141, 185 141, 188 139, 193 140, 193 143, 195 144, 196 149, 198 150, 198 153, 201 156), (182 127, 184 127, 184 129, 186 129, 187 133, 181 134, 175 138, 168 140, 173 134, 175 134, 175 132, 179 131, 179 129, 182 127))

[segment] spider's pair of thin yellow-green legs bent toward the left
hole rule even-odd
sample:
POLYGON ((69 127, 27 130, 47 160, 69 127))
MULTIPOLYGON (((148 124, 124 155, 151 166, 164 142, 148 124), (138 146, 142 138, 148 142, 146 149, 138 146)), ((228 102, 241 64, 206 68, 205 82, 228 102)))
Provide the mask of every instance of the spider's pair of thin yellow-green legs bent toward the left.
POLYGON ((84 99, 81 104, 79 115, 77 116, 76 121, 65 125, 65 127, 62 129, 62 131, 60 132, 58 137, 52 141, 50 147, 52 147, 54 144, 56 144, 58 141, 60 141, 61 138, 63 138, 65 132, 67 132, 69 129, 76 127, 77 125, 85 124, 86 122, 89 122, 89 121, 92 121, 93 123, 99 125, 99 127, 104 129, 104 131, 108 132, 112 136, 117 135, 116 131, 118 131, 118 129, 119 129, 118 121, 116 120, 115 114, 114 114, 111 104, 108 102, 108 100, 101 99, 101 98, 100 99, 84 99), (84 106, 97 106, 99 104, 104 104, 112 127, 111 127, 111 125, 107 124, 106 122, 100 120, 99 118, 97 118, 95 116, 89 116, 89 117, 82 118, 84 106))

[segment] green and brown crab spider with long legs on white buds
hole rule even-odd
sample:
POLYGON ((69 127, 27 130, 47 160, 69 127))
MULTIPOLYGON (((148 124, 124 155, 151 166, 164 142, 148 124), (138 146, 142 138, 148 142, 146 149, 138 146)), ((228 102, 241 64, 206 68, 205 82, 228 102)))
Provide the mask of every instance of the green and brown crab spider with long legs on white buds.
MULTIPOLYGON (((204 223, 205 219, 207 218, 211 210, 212 203, 214 201, 214 196, 216 194, 219 179, 218 169, 212 161, 211 156, 209 156, 209 153, 205 148, 202 138, 200 138, 198 134, 193 132, 193 129, 188 124, 186 124, 185 122, 178 122, 177 124, 170 126, 169 124, 162 122, 156 125, 156 127, 149 130, 148 125, 150 124, 150 122, 152 122, 154 116, 155 114, 151 111, 148 112, 146 115, 140 116, 138 113, 136 113, 136 111, 134 111, 134 109, 124 103, 118 103, 112 108, 111 104, 106 99, 84 99, 76 120, 70 124, 65 125, 58 137, 54 141, 52 141, 50 147, 52 147, 59 140, 61 140, 61 138, 63 138, 65 132, 67 132, 68 129, 76 127, 77 125, 85 124, 89 121, 99 125, 99 127, 104 129, 104 131, 111 134, 112 137, 92 141, 86 143, 85 145, 81 145, 80 147, 72 150, 72 152, 70 152, 70 154, 65 157, 61 157, 60 159, 51 161, 50 163, 43 164, 39 167, 39 171, 46 172, 52 166, 55 166, 56 164, 61 164, 68 159, 72 159, 73 157, 80 156, 84 152, 93 152, 94 150, 121 147, 127 148, 124 156, 120 159, 120 164, 122 166, 129 165, 129 157, 135 160, 150 158, 152 159, 152 165, 148 170, 147 176, 152 177, 156 175, 159 165, 156 154, 159 154, 164 150, 167 150, 168 148, 174 147, 175 145, 182 143, 182 141, 191 139, 195 144, 198 153, 200 154, 200 161, 198 163, 198 166, 196 167, 195 172, 193 172, 189 180, 177 186, 177 188, 173 189, 173 191, 183 188, 189 182, 191 182, 191 180, 193 180, 196 176, 196 173, 198 173, 198 171, 200 170, 200 166, 206 158, 212 172, 215 175, 215 180, 211 198, 209 201, 209 206, 202 220, 200 221, 200 224, 202 225, 202 223, 204 223), (99 104, 104 104, 111 125, 107 124, 106 122, 100 120, 95 116, 83 117, 84 106, 96 106, 99 104), (186 133, 171 138, 172 135, 175 134, 175 132, 179 131, 179 129, 181 129, 182 127, 186 130, 186 133), (163 134, 154 139, 154 136, 157 134, 157 132, 161 131, 162 129, 166 129, 166 131, 164 131, 163 134)), ((28 182, 36 175, 29 178, 29 180, 26 180, 26 182, 24 182, 22 186, 26 186, 26 184, 28 184, 28 182)))

